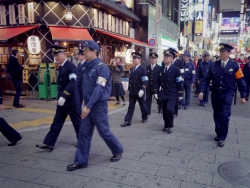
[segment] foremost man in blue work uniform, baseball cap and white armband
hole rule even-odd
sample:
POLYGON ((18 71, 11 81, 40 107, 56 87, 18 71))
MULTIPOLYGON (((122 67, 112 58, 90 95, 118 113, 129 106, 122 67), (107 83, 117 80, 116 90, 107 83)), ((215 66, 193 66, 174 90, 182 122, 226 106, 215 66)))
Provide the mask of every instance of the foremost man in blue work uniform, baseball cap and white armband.
POLYGON ((88 167, 89 150, 94 127, 113 153, 111 162, 121 159, 123 147, 109 129, 108 99, 111 94, 112 77, 109 68, 98 58, 99 46, 95 41, 84 44, 84 54, 87 60, 83 76, 83 99, 85 106, 82 110, 82 122, 78 135, 78 146, 74 164, 68 165, 67 170, 73 171, 88 167))

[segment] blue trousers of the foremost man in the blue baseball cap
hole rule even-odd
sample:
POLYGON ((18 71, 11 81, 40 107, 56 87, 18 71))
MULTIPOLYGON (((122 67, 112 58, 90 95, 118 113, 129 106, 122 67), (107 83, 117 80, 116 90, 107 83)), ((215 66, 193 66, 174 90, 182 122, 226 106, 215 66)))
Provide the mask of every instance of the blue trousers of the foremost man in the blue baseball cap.
POLYGON ((113 155, 123 151, 123 146, 109 129, 107 113, 107 101, 99 102, 93 106, 88 116, 82 119, 74 164, 88 165, 89 150, 95 126, 113 155))

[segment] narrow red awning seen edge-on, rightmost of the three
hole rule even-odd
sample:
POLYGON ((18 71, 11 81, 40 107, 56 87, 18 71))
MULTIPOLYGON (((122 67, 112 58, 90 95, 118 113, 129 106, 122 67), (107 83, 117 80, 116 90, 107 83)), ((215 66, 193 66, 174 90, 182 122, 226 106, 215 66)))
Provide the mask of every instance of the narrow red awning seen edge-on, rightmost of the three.
POLYGON ((133 38, 123 37, 123 36, 116 35, 116 34, 109 33, 109 32, 105 32, 105 31, 102 31, 102 30, 96 30, 96 31, 98 33, 105 34, 105 35, 108 35, 110 37, 113 37, 113 38, 115 38, 117 40, 122 40, 124 42, 132 43, 132 44, 137 45, 137 46, 143 46, 143 47, 147 47, 147 48, 154 48, 154 46, 150 46, 146 42, 141 42, 141 41, 135 40, 133 38))

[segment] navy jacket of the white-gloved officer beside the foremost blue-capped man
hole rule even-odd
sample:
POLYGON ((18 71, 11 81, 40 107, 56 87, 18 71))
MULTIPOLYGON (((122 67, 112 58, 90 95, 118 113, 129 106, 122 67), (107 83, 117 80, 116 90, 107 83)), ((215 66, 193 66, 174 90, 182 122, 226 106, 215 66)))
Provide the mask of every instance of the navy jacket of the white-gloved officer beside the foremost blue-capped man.
POLYGON ((60 97, 66 99, 63 106, 75 106, 79 104, 76 75, 76 66, 68 60, 63 66, 59 67, 57 97, 58 99, 60 97), (72 78, 71 76, 75 78, 72 78))

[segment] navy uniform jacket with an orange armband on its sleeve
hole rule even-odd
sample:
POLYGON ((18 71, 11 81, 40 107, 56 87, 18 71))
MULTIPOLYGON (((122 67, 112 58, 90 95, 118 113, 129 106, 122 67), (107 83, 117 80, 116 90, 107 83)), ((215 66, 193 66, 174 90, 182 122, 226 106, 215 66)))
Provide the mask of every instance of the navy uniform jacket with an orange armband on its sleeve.
POLYGON ((204 93, 209 86, 210 80, 212 80, 212 93, 233 95, 238 84, 241 98, 246 98, 246 82, 238 63, 229 60, 222 69, 220 60, 214 62, 205 78, 201 80, 201 93, 204 93))

